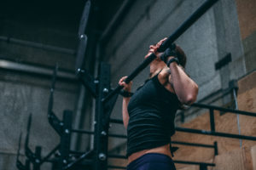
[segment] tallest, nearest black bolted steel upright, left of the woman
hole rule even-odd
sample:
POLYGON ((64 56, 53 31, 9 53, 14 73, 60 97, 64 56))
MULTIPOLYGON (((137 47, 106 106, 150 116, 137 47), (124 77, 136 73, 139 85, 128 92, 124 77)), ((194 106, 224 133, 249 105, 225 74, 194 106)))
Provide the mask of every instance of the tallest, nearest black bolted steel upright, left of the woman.
MULTIPOLYGON (((101 63, 99 66, 99 84, 96 98, 96 116, 95 116, 95 170, 108 169, 108 127, 106 126, 106 113, 102 99, 106 97, 110 90, 110 65, 101 63)), ((109 122, 108 122, 109 124, 109 122)))

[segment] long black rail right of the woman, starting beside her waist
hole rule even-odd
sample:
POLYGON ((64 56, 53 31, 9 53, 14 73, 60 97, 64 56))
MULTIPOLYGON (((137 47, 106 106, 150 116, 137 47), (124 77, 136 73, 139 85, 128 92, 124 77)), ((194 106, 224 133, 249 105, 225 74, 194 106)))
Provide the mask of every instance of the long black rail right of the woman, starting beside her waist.
POLYGON ((199 129, 193 129, 193 128, 185 128, 185 127, 176 127, 175 129, 179 132, 184 132, 184 133, 198 133, 198 134, 206 134, 206 135, 219 136, 219 137, 225 137, 225 138, 256 140, 256 137, 244 136, 239 134, 217 133, 217 132, 211 132, 211 131, 199 130, 199 129))

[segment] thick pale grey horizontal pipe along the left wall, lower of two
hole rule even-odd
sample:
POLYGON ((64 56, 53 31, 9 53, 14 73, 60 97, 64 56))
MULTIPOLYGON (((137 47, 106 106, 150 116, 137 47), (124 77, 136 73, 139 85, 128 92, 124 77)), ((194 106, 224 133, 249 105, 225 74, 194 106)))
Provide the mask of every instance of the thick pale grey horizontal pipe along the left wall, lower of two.
MULTIPOLYGON (((21 71, 30 74, 36 74, 39 76, 52 76, 52 68, 21 64, 5 59, 0 59, 0 69, 6 69, 10 71, 21 71)), ((77 77, 75 76, 75 74, 67 71, 59 71, 58 77, 69 81, 77 81, 77 77)))

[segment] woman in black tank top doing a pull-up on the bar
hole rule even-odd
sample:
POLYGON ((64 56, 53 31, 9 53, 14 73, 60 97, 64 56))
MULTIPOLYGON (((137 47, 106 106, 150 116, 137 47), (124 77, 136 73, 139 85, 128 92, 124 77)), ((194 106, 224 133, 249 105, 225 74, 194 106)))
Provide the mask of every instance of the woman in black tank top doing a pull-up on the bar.
MULTIPOLYGON (((127 170, 174 170, 170 150, 175 133, 174 117, 181 105, 191 105, 198 94, 197 84, 183 71, 186 56, 178 46, 158 53, 162 39, 149 47, 145 59, 152 53, 149 80, 130 98, 123 98, 123 122, 127 128, 127 170)), ((132 82, 119 80, 127 93, 132 82)))

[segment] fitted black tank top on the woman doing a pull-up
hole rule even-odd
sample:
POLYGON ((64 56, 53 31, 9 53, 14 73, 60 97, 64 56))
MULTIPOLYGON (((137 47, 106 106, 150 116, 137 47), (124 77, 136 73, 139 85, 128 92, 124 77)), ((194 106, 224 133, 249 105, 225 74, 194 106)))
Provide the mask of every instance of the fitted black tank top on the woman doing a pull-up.
POLYGON ((137 89, 128 105, 127 156, 169 144, 179 106, 177 95, 159 82, 158 75, 137 89))

